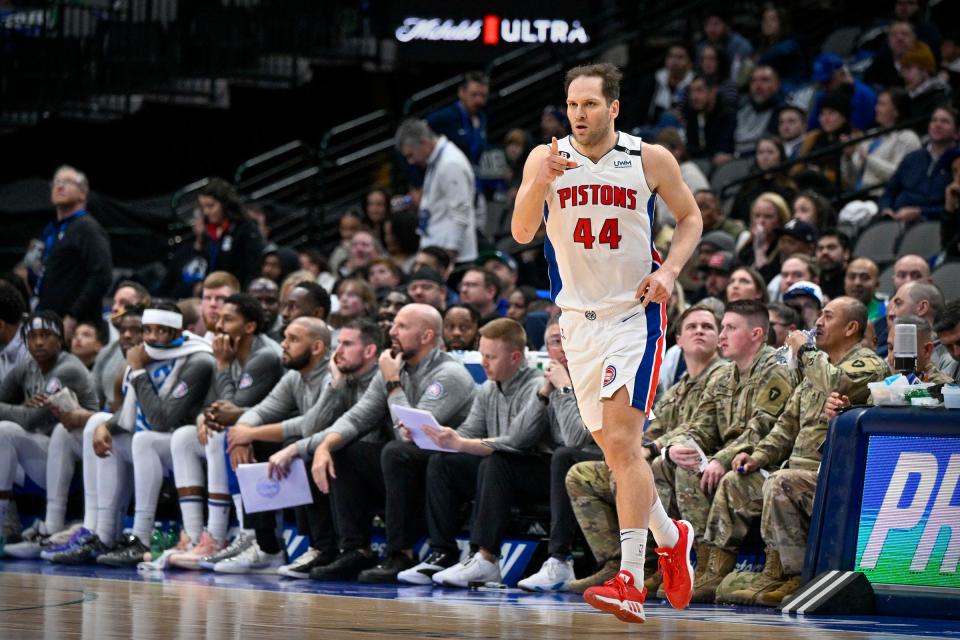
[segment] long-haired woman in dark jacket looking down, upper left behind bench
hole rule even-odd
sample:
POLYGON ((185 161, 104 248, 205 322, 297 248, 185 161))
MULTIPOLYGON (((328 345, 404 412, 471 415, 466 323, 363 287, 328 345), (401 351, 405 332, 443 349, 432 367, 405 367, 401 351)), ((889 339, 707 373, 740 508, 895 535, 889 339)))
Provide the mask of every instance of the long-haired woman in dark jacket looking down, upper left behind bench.
POLYGON ((201 253, 207 262, 205 273, 227 271, 246 285, 257 275, 257 259, 264 242, 239 194, 226 180, 211 178, 200 190, 197 203, 206 225, 201 240, 201 253))

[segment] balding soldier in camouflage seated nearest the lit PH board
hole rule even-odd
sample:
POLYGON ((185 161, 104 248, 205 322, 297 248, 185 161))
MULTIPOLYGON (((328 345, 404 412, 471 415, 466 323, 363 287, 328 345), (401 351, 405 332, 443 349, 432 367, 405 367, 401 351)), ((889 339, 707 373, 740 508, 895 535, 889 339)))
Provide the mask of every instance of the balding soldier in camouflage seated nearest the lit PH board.
POLYGON ((709 595, 708 581, 719 584, 730 572, 750 521, 761 513, 766 565, 748 588, 734 591, 730 600, 769 605, 771 598, 782 599, 799 587, 821 459, 819 448, 827 432, 827 397, 836 391, 853 402, 866 402, 867 383, 882 380, 890 371, 875 352, 860 345, 866 314, 863 303, 840 297, 827 304, 817 320, 819 350, 808 346, 801 332, 787 337, 786 344, 798 360, 801 382, 770 433, 762 436, 748 430, 735 443, 739 451, 733 459, 734 471, 721 480, 708 518, 706 540, 711 545, 711 560, 716 557, 718 562, 705 577, 701 599, 709 595), (758 473, 780 467, 766 482, 758 473))

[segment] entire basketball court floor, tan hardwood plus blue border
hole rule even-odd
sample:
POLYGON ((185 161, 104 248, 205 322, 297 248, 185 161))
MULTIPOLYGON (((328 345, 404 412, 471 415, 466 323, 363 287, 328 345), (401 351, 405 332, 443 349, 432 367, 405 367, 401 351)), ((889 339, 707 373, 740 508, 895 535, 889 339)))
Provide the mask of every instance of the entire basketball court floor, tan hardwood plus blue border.
POLYGON ((955 621, 796 618, 765 609, 648 603, 626 625, 574 594, 316 583, 275 576, 0 561, 0 639, 61 638, 957 638, 955 621))

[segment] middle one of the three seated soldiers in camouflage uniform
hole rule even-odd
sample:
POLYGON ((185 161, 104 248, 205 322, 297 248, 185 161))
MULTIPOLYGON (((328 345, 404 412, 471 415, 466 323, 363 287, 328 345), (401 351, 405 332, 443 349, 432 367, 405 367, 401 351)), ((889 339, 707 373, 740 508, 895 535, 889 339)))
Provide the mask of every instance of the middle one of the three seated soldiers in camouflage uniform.
POLYGON ((695 581, 702 580, 709 564, 710 547, 703 532, 713 492, 737 453, 730 445, 746 429, 769 432, 796 385, 794 374, 776 363, 775 352, 767 345, 769 328, 769 313, 762 302, 740 300, 728 306, 720 349, 731 362, 711 380, 695 417, 669 440, 666 455, 653 464, 654 477, 665 478, 658 482, 658 490, 669 483, 681 517, 696 531, 695 581), (689 440, 707 456, 702 473, 699 452, 688 446, 689 440))

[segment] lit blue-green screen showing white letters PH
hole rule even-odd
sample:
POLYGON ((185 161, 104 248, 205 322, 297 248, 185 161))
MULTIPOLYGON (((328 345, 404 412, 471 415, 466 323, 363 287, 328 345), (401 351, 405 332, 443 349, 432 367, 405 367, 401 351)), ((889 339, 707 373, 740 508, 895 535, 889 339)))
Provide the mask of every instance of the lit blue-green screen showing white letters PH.
POLYGON ((856 570, 960 589, 960 437, 870 436, 856 570))

